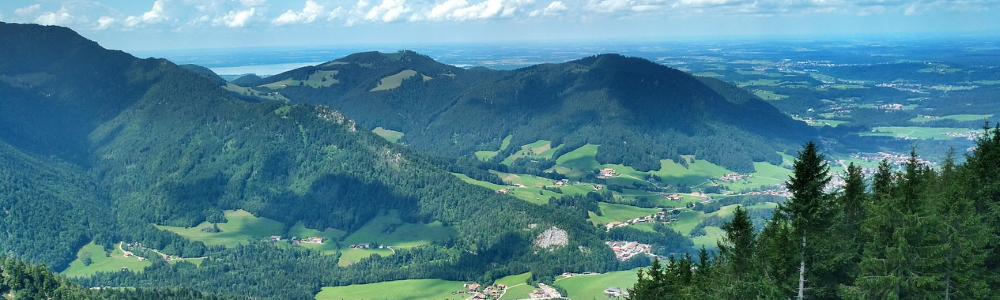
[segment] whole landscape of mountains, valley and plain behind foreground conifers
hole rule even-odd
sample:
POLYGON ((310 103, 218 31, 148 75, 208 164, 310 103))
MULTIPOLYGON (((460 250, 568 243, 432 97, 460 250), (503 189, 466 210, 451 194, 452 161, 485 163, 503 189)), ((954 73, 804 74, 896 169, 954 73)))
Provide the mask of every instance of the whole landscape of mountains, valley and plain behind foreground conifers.
POLYGON ((803 143, 841 195, 850 164, 964 162, 1000 114, 991 41, 434 48, 237 77, 0 33, 0 252, 84 287, 607 297, 722 252, 736 217, 771 224, 803 143))

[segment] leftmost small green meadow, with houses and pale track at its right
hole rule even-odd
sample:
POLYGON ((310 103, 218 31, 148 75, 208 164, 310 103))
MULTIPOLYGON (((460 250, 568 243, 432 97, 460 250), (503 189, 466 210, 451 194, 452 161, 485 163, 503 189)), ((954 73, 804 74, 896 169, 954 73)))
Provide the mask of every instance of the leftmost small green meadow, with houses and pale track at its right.
MULTIPOLYGON (((69 267, 62 272, 66 277, 87 277, 94 275, 97 272, 118 272, 122 269, 128 269, 132 272, 141 272, 143 268, 152 265, 153 263, 149 260, 139 261, 136 257, 125 257, 125 253, 118 250, 117 246, 115 250, 111 252, 110 256, 106 256, 104 252, 104 247, 94 244, 91 242, 76 254, 77 259, 70 263, 69 267), (83 258, 89 256, 91 263, 89 266, 83 264, 83 258)), ((157 258, 153 258, 157 259, 157 258)))

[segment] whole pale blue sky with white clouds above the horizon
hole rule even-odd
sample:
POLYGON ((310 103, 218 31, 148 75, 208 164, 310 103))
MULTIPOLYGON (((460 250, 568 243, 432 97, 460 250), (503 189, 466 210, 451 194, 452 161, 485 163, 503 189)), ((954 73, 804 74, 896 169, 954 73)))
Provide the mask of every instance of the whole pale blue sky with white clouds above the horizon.
POLYGON ((4 0, 126 51, 560 40, 1000 36, 1000 0, 4 0))

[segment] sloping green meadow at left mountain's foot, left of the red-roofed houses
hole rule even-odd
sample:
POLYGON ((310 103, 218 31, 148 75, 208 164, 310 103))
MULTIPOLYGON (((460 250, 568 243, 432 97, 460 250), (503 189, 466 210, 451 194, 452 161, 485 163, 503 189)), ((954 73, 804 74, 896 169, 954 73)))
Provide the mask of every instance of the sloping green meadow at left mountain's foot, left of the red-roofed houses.
POLYGON ((192 228, 156 225, 157 228, 169 230, 187 239, 201 241, 209 246, 233 247, 245 244, 252 239, 262 239, 272 235, 280 235, 285 227, 281 222, 268 218, 258 218, 245 210, 225 211, 227 223, 218 223, 220 232, 208 232, 202 229, 211 228, 212 224, 202 222, 192 228))

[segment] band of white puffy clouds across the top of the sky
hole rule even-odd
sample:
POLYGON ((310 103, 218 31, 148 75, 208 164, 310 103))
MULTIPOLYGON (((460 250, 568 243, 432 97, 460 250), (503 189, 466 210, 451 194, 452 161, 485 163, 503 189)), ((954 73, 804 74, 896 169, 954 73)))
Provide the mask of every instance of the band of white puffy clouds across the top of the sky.
POLYGON ((129 11, 121 4, 122 1, 66 0, 25 4, 0 11, 0 16, 8 21, 90 30, 183 30, 206 26, 355 26, 365 23, 525 20, 581 22, 727 15, 910 16, 928 12, 990 12, 1000 9, 1000 0, 155 0, 141 11, 129 11))

